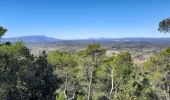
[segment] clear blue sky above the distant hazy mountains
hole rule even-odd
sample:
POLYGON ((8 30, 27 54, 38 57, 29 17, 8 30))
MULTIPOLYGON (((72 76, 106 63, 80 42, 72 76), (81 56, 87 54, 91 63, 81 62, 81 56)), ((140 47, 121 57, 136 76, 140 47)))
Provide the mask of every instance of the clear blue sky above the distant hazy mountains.
POLYGON ((5 38, 170 37, 157 30, 170 0, 0 0, 0 12, 5 38))

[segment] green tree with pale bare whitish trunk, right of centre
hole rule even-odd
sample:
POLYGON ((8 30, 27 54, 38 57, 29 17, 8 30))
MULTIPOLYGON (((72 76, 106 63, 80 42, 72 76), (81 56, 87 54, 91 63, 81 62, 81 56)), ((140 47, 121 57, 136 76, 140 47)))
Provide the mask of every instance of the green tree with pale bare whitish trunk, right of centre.
MULTIPOLYGON (((130 81, 134 70, 131 55, 128 52, 120 52, 103 61, 97 77, 100 80, 100 91, 109 100, 130 99, 130 81), (104 80, 104 81, 102 81, 104 80)), ((99 84, 99 83, 98 83, 99 84)))

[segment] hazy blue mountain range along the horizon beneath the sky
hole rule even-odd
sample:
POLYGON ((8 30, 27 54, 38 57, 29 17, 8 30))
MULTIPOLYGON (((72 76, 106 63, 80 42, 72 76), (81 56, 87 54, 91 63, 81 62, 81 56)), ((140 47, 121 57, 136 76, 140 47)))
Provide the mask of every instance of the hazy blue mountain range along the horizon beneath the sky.
POLYGON ((170 38, 89 38, 89 39, 74 39, 74 40, 61 40, 53 37, 47 37, 42 35, 34 36, 22 36, 22 37, 12 37, 12 38, 2 38, 0 42, 57 42, 57 41, 84 41, 84 42, 102 42, 102 41, 117 41, 117 42, 135 42, 135 41, 148 41, 148 42, 170 42, 170 38))

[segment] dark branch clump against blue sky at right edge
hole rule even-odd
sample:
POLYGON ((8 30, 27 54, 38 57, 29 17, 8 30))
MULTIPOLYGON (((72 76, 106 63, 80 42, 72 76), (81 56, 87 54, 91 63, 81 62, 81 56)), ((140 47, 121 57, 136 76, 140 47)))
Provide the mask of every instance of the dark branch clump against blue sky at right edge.
POLYGON ((159 23, 160 32, 170 33, 170 18, 166 18, 159 23))

